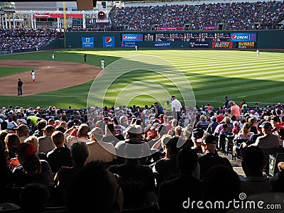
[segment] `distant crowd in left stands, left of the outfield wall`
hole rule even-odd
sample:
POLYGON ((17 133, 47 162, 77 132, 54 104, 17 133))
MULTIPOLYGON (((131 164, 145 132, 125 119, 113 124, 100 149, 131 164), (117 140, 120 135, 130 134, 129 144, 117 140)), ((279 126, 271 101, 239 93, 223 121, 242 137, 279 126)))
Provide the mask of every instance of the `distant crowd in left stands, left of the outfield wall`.
POLYGON ((0 51, 23 52, 40 50, 48 41, 53 41, 60 33, 52 28, 0 28, 0 51))

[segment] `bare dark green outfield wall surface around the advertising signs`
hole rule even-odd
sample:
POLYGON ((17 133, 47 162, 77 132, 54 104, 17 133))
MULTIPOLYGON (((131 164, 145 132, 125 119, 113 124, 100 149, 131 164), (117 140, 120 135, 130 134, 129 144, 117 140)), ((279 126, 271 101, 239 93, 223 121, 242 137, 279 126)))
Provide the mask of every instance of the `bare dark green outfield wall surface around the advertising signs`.
MULTIPOLYGON (((65 48, 82 48, 82 37, 94 37, 94 48, 102 48, 104 36, 114 36, 116 48, 121 47, 121 34, 143 33, 257 33, 257 46, 261 49, 284 49, 284 30, 267 31, 141 31, 141 32, 67 32, 65 48)), ((138 47, 153 48, 153 42, 137 42, 138 47)), ((209 47, 212 43, 209 43, 209 47)), ((61 47, 60 47, 61 48, 61 47)), ((190 48, 190 42, 172 42, 171 48, 190 48)), ((236 42, 233 43, 236 48, 236 42)))

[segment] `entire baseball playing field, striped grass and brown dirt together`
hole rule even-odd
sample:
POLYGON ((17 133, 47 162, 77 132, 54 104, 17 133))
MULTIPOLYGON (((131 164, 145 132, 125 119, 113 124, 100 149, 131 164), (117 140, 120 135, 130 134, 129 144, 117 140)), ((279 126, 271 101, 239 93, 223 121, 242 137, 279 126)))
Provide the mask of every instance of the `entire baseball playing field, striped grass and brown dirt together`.
POLYGON ((284 102, 283 81, 281 51, 261 50, 258 56, 255 50, 39 51, 0 56, 0 107, 143 106, 163 104, 173 94, 186 105, 222 106, 227 95, 237 104, 246 99, 265 106, 284 102))

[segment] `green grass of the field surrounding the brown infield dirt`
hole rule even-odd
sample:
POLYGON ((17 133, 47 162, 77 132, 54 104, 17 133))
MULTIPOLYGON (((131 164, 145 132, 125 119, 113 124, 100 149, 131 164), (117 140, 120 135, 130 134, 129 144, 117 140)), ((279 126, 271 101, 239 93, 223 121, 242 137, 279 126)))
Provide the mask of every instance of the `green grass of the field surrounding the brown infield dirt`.
MULTIPOLYGON (((255 51, 241 50, 55 50, 38 53, 25 53, 16 55, 1 55, 2 59, 14 60, 51 60, 51 53, 55 53, 55 60, 83 62, 84 54, 87 54, 87 63, 100 67, 102 58, 105 67, 123 59, 120 65, 105 68, 104 77, 100 80, 111 81, 117 70, 124 70, 128 62, 133 60, 132 55, 138 57, 149 56, 148 59, 139 61, 145 70, 133 70, 119 76, 105 88, 90 91, 90 94, 99 97, 100 89, 106 90, 104 104, 114 106, 116 97, 124 92, 126 104, 153 104, 155 99, 168 99, 169 94, 179 97, 179 88, 190 88, 195 94, 197 104, 210 103, 212 106, 221 106, 224 95, 234 100, 237 104, 246 99, 249 105, 258 102, 261 106, 284 102, 284 54, 280 51, 261 51, 256 57, 255 51), (160 58, 160 63, 151 61, 151 58, 160 58), (165 61, 180 70, 188 82, 178 72, 170 72, 165 61), (160 70, 152 72, 152 70, 160 70), (167 76, 171 76, 170 80, 167 76), (139 83, 141 82, 141 83, 139 83), (129 85, 132 84, 131 87, 129 85), (166 92, 160 92, 154 86, 160 85, 166 92), (146 89, 147 88, 147 89, 146 89), (145 89, 145 94, 137 91, 145 89), (157 92, 158 91, 158 92, 157 92), (135 95, 137 92, 137 95, 135 95), (146 94, 148 93, 148 94, 146 94)), ((17 72, 31 70, 31 67, 0 67, 0 76, 13 75, 17 72)), ((117 72, 119 72, 117 71, 117 72)), ((45 92, 26 97, 1 96, 3 106, 23 107, 86 107, 89 88, 92 82, 87 82, 75 87, 69 87, 52 92, 45 92)), ((1 85, 4 87, 4 85, 1 85)), ((24 89, 24 88, 23 88, 24 89)))

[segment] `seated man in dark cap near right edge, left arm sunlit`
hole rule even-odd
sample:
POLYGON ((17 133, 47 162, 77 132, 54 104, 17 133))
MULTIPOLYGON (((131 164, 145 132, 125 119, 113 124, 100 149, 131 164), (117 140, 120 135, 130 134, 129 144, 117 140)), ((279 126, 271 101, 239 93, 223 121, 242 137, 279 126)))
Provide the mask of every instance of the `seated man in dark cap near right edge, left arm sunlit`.
POLYGON ((251 144, 251 146, 258 146, 259 148, 278 148, 280 141, 278 136, 272 133, 271 123, 264 121, 261 126, 264 136, 256 138, 256 142, 251 144))

